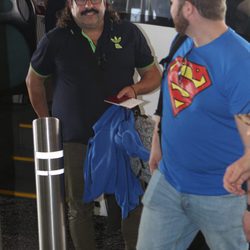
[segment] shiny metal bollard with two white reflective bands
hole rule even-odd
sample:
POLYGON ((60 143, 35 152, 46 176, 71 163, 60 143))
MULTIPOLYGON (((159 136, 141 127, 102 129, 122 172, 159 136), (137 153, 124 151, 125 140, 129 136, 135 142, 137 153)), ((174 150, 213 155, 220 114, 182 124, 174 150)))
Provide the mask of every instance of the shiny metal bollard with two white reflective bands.
POLYGON ((64 168, 57 118, 33 121, 40 250, 66 250, 64 168))

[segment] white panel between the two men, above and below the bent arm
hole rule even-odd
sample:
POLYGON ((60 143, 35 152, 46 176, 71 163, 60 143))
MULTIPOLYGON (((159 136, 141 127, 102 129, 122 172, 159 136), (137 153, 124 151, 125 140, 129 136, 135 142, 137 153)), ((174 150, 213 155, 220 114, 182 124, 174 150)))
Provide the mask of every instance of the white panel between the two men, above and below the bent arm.
MULTIPOLYGON (((170 44, 176 35, 174 28, 149 25, 149 24, 137 24, 145 35, 152 52, 157 62, 168 55, 170 44)), ((154 114, 158 102, 159 90, 153 93, 143 95, 142 99, 145 101, 143 109, 145 114, 154 114)))

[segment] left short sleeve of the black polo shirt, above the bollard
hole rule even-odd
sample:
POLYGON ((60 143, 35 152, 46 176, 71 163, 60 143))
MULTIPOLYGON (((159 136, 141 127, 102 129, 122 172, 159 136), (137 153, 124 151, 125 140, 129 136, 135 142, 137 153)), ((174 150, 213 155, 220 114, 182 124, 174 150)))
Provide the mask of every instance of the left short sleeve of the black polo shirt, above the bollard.
POLYGON ((31 67, 37 74, 48 76, 54 73, 54 61, 54 49, 48 35, 45 34, 32 55, 31 67))

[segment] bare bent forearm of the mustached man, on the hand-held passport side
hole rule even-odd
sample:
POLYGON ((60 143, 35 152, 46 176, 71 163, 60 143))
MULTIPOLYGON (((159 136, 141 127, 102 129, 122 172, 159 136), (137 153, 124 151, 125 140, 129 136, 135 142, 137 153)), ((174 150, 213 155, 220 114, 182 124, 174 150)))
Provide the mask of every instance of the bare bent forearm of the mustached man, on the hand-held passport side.
POLYGON ((152 65, 149 70, 138 70, 138 72, 141 75, 141 79, 133 85, 136 95, 150 93, 160 86, 161 72, 156 65, 152 65))

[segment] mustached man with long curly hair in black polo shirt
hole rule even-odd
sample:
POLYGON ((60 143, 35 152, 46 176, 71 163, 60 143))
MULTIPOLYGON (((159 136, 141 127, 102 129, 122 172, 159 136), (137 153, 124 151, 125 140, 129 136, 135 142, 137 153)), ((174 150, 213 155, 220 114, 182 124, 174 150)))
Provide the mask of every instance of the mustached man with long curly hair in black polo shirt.
MULTIPOLYGON (((160 85, 160 73, 142 33, 119 20, 106 0, 68 0, 57 27, 43 37, 31 59, 27 87, 38 117, 50 115, 44 81, 51 75, 52 115, 62 124, 70 233, 76 249, 92 250, 93 204, 82 201, 92 126, 110 106, 104 102, 107 97, 148 93, 160 85), (141 76, 136 84, 135 69, 141 76)), ((137 225, 128 224, 126 248, 135 249, 137 225)))

